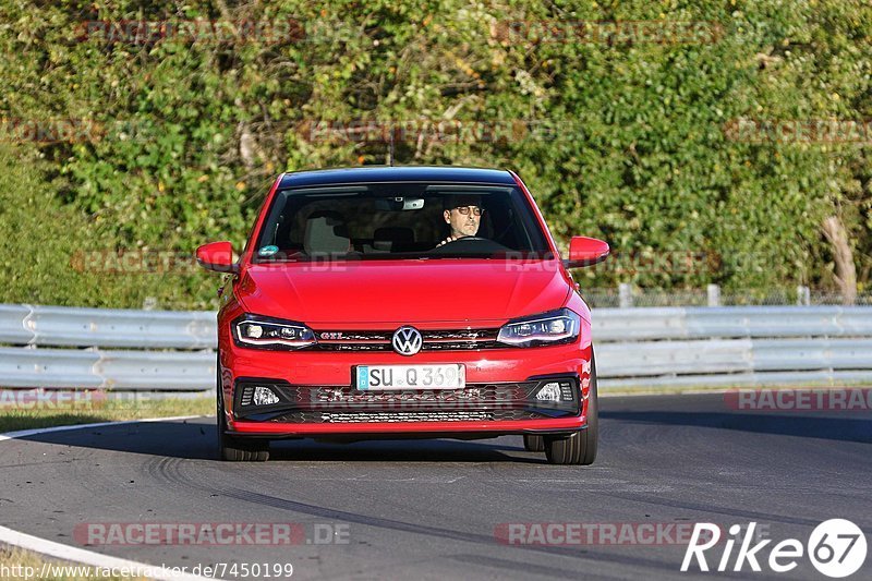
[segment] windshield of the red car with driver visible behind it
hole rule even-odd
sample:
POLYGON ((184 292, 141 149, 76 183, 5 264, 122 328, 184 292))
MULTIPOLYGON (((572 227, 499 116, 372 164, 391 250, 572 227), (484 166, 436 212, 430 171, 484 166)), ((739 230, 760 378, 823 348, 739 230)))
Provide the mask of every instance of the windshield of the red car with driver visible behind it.
POLYGON ((277 192, 253 262, 448 257, 553 255, 516 186, 360 183, 277 192))

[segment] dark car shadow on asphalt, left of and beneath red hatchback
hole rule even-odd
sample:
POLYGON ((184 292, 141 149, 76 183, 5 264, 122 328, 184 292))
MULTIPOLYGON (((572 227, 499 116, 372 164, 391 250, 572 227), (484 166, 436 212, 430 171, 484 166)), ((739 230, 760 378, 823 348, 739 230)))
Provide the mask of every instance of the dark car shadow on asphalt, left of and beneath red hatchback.
MULTIPOLYGON (((168 458, 217 460, 214 419, 147 422, 49 432, 21 438, 59 446, 168 458)), ((526 452, 520 436, 492 440, 372 439, 351 444, 312 439, 275 440, 270 461, 324 462, 509 462, 545 463, 526 452)))

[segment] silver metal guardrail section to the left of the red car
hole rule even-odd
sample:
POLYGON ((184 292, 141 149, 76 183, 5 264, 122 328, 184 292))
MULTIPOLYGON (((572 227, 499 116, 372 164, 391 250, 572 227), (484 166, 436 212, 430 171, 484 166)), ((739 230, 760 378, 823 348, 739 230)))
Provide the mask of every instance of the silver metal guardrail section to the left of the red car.
POLYGON ((0 349, 0 386, 211 389, 216 337, 210 312, 0 305, 0 343, 25 346, 0 349))

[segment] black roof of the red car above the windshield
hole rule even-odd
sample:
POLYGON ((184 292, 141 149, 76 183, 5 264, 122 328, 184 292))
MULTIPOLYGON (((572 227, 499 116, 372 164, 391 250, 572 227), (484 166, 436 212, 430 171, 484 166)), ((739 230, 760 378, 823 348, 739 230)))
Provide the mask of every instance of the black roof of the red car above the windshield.
POLYGON ((280 187, 373 182, 498 183, 516 185, 506 170, 458 166, 365 166, 286 173, 280 187))

